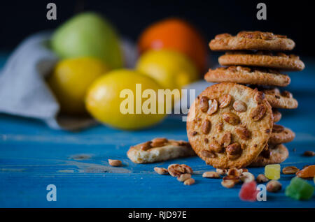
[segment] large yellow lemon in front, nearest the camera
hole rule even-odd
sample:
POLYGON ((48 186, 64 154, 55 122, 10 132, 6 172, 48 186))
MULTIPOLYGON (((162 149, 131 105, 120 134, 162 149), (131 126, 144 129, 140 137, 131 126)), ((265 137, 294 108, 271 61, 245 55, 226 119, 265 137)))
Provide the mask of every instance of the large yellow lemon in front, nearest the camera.
POLYGON ((165 112, 158 114, 158 107, 164 105, 158 99, 158 89, 160 85, 150 77, 118 69, 93 82, 85 104, 103 124, 127 130, 146 128, 165 117, 165 112))

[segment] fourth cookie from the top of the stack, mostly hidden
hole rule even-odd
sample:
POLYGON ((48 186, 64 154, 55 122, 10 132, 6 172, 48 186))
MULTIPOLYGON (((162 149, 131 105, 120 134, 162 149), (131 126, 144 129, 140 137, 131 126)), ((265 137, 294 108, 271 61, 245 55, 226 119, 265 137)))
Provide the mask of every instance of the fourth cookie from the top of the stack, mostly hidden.
POLYGON ((297 108, 297 101, 293 98, 293 95, 289 91, 280 91, 277 88, 274 89, 262 89, 265 93, 267 101, 272 108, 282 109, 295 109, 297 108))

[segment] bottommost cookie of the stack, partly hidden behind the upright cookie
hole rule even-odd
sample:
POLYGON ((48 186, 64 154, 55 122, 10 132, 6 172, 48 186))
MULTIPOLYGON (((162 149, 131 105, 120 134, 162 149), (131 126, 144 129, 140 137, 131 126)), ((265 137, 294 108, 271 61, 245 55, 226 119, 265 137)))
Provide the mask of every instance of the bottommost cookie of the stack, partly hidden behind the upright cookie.
POLYGON ((284 145, 269 145, 269 148, 262 151, 251 163, 251 167, 264 167, 268 164, 279 164, 288 158, 288 149, 284 145))

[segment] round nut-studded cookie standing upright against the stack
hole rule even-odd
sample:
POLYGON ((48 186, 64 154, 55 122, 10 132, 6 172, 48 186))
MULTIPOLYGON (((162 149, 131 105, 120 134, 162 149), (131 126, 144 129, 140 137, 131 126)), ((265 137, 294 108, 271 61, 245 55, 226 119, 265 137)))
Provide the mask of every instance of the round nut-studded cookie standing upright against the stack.
POLYGON ((214 168, 244 168, 272 133, 272 108, 257 89, 225 82, 197 96, 188 113, 190 145, 214 168))

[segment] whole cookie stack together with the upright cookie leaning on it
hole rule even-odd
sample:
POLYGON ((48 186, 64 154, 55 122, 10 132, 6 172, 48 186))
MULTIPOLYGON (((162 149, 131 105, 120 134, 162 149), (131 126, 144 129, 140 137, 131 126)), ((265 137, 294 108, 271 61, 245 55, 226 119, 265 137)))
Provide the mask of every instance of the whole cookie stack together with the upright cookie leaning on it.
POLYGON ((281 71, 304 68, 299 57, 280 52, 292 50, 295 43, 269 32, 241 31, 237 36, 220 34, 209 46, 214 51, 227 51, 218 59, 225 67, 209 69, 204 79, 225 83, 208 87, 190 108, 187 128, 193 149, 216 168, 283 162, 288 149, 282 144, 292 141, 295 133, 274 124, 281 119, 276 109, 295 109, 297 101, 290 92, 276 87, 290 84, 290 77, 281 71), (215 112, 209 112, 211 108, 215 112), (221 117, 216 117, 218 114, 221 117), (205 126, 211 128, 211 138, 203 131, 205 126))

